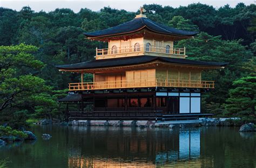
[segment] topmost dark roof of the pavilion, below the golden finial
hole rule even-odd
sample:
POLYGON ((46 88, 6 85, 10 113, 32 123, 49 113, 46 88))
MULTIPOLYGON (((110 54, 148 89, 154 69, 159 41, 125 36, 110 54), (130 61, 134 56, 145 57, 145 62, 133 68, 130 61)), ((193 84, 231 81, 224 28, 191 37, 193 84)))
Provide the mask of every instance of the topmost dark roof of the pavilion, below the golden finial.
POLYGON ((120 24, 114 27, 110 27, 109 29, 89 32, 84 34, 87 37, 102 37, 102 36, 111 36, 114 34, 136 32, 144 28, 154 32, 158 32, 158 33, 172 34, 172 35, 178 35, 178 36, 194 36, 198 33, 198 32, 174 29, 173 27, 159 24, 159 23, 153 22, 150 19, 142 17, 142 18, 135 18, 129 22, 125 22, 123 24, 120 24))

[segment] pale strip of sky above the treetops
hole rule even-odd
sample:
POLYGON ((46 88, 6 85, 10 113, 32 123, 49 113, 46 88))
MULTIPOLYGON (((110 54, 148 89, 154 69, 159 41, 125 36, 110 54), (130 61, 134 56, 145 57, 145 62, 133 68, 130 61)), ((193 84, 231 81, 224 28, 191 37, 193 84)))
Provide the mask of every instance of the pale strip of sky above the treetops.
POLYGON ((10 8, 14 10, 21 10, 23 6, 30 6, 34 11, 53 11, 56 8, 70 8, 74 12, 79 12, 81 8, 88 8, 93 11, 99 11, 104 6, 110 6, 115 9, 124 9, 126 11, 137 11, 143 4, 159 4, 163 6, 172 6, 177 8, 181 6, 187 6, 191 3, 203 3, 212 5, 214 8, 219 8, 229 4, 234 7, 239 2, 250 5, 256 3, 256 0, 0 0, 0 6, 4 8, 10 8))

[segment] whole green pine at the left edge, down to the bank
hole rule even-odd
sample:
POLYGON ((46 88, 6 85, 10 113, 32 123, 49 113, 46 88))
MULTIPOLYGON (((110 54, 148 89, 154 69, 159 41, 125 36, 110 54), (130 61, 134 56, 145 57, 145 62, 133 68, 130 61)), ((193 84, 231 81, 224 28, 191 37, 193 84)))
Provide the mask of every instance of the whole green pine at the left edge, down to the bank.
POLYGON ((0 113, 9 116, 8 123, 12 128, 24 125, 28 115, 44 104, 42 100, 49 98, 36 97, 52 90, 43 79, 35 76, 44 67, 43 62, 33 55, 37 50, 37 47, 25 44, 0 46, 0 113))

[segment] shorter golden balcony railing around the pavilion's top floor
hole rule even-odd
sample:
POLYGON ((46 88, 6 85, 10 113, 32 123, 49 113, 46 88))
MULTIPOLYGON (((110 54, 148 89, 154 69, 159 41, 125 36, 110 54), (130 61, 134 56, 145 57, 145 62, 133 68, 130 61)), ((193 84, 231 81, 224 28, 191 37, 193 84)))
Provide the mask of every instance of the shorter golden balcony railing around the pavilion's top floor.
POLYGON ((127 53, 138 53, 138 52, 147 52, 147 53, 161 53, 161 54, 171 54, 171 55, 182 55, 185 56, 186 48, 172 48, 172 47, 159 47, 159 46, 127 46, 127 47, 115 47, 115 48, 96 48, 96 57, 104 55, 113 55, 113 54, 127 54, 127 53))

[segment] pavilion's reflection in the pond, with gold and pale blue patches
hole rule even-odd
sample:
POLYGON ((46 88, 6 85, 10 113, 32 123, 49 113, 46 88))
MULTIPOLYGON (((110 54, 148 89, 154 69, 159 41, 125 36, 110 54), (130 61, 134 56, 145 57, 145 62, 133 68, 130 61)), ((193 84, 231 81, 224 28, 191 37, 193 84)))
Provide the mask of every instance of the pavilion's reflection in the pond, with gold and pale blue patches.
POLYGON ((155 167, 173 162, 181 166, 187 160, 200 166, 200 129, 79 127, 72 131, 80 138, 69 138, 69 167, 155 167))

